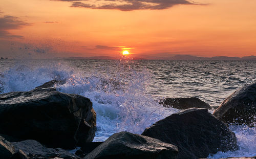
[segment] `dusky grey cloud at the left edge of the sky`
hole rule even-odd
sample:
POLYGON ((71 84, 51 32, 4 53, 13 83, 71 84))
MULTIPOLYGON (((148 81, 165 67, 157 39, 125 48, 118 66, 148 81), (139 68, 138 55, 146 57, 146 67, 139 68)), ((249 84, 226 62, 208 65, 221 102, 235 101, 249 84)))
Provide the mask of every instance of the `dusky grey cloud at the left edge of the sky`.
POLYGON ((22 38, 23 36, 20 35, 13 35, 8 32, 8 30, 12 29, 20 29, 24 26, 29 26, 27 22, 19 20, 18 17, 15 16, 2 16, 0 17, 0 38, 22 38))

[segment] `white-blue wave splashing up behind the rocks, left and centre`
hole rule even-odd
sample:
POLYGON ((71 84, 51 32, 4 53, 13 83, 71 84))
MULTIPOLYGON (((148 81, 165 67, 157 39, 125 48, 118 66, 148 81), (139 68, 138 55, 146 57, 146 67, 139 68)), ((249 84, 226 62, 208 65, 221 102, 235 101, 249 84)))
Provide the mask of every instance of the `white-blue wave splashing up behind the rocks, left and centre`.
MULTIPOLYGON (((129 61, 128 61, 129 62, 129 61)), ((89 98, 97 113, 97 131, 94 141, 104 141, 115 132, 142 133, 156 121, 178 112, 164 108, 146 94, 149 73, 135 71, 126 62, 118 62, 115 75, 94 72, 75 72, 62 64, 47 66, 16 65, 4 72, 0 81, 4 93, 28 91, 50 80, 66 80, 56 86, 62 93, 78 94, 89 98)))

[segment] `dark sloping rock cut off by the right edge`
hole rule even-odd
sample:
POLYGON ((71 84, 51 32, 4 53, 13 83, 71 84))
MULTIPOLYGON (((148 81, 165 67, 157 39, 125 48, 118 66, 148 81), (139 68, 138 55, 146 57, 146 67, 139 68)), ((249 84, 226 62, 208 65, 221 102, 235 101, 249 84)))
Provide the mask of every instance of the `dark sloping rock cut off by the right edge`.
POLYGON ((246 124, 256 123, 256 83, 245 85, 226 98, 214 113, 224 123, 246 124))

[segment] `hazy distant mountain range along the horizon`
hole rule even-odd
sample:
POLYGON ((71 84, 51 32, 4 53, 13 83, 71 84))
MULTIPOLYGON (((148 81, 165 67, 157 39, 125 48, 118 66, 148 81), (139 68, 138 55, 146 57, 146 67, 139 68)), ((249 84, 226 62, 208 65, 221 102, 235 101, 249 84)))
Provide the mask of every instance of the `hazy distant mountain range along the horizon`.
MULTIPOLYGON (((93 57, 68 57, 66 59, 93 59, 93 60, 118 60, 120 57, 112 56, 93 56, 93 57)), ((244 57, 228 57, 228 56, 215 56, 215 57, 197 57, 192 55, 175 55, 170 57, 133 57, 135 60, 256 60, 256 56, 244 57)))

